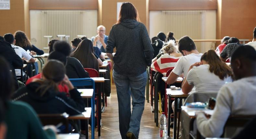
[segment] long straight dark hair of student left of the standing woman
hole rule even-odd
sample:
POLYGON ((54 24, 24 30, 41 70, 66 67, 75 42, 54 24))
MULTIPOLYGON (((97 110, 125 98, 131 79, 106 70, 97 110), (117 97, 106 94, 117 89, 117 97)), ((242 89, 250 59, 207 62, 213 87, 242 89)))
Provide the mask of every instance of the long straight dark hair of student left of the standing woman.
POLYGON ((84 68, 92 68, 99 71, 99 63, 93 54, 93 44, 89 39, 82 40, 71 57, 78 59, 84 68))

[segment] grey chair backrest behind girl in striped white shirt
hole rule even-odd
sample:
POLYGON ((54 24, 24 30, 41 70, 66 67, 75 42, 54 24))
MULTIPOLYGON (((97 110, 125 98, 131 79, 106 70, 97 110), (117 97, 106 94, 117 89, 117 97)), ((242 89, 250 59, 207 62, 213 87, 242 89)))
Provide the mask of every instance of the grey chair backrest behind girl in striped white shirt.
POLYGON ((192 102, 207 102, 209 98, 216 98, 218 92, 194 92, 185 100, 184 105, 192 102))

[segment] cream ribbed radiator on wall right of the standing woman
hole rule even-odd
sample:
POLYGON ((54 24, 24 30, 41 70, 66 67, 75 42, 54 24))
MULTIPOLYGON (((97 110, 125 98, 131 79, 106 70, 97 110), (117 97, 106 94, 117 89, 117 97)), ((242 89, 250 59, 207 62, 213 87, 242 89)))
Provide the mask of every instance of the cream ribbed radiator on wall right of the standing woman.
MULTIPOLYGON (((192 39, 204 39, 205 11, 162 11, 163 32, 173 32, 176 39, 185 35, 192 39)), ((197 49, 204 51, 201 42, 196 42, 197 49)))

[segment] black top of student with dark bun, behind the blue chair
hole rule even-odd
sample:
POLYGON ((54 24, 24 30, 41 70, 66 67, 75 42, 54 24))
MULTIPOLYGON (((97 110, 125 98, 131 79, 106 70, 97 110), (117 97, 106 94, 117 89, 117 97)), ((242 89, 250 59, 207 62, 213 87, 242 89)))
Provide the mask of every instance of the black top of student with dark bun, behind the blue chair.
POLYGON ((88 72, 76 58, 68 57, 65 67, 68 78, 90 78, 88 72))

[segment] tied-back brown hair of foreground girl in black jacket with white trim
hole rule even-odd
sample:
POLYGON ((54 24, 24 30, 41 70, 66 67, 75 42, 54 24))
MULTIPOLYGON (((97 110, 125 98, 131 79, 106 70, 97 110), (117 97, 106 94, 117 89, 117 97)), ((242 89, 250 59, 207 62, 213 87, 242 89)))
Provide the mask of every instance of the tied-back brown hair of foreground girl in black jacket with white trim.
POLYGON ((55 59, 48 60, 42 70, 42 75, 45 79, 36 81, 41 84, 36 91, 40 91, 41 96, 49 89, 59 91, 56 83, 64 79, 65 72, 66 69, 62 62, 55 59))

